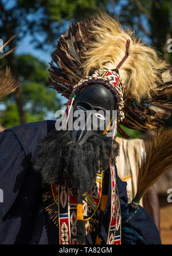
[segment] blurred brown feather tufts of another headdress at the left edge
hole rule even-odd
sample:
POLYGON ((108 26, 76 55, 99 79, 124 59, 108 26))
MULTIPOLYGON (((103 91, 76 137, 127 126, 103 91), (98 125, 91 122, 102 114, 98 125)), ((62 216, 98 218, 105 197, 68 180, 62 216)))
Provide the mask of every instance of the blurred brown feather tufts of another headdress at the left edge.
MULTIPOLYGON (((0 47, 0 51, 7 45, 11 40, 14 39, 14 36, 11 37, 2 47, 0 47)), ((5 58, 8 54, 13 52, 14 49, 6 52, 5 54, 0 56, 0 59, 5 58)), ((0 67, 1 68, 1 67, 0 67)), ((14 92, 18 87, 18 81, 11 77, 10 67, 6 67, 6 71, 0 69, 0 99, 9 95, 9 93, 14 92)))

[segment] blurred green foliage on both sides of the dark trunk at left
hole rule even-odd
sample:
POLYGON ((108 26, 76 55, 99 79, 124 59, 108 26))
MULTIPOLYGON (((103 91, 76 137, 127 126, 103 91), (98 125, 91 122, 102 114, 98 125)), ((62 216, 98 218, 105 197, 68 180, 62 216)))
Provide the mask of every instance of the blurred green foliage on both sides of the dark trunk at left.
MULTIPOLYGON (((19 79, 22 84, 26 122, 42 121, 50 111, 54 113, 61 107, 57 93, 49 88, 47 65, 31 55, 14 55, 14 57, 20 70, 19 79)), ((1 111, 2 125, 6 128, 19 125, 14 94, 7 96, 3 101, 6 107, 1 111)))

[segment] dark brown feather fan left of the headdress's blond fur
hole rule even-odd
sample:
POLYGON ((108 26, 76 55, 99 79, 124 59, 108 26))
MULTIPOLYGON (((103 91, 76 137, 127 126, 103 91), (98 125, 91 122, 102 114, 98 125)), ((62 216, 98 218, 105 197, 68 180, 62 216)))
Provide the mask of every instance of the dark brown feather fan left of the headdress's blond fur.
POLYGON ((95 18, 85 19, 77 24, 72 23, 69 29, 60 37, 57 48, 52 53, 50 63, 50 85, 58 93, 69 99, 72 88, 83 78, 82 63, 86 45, 92 38, 90 31, 95 18))

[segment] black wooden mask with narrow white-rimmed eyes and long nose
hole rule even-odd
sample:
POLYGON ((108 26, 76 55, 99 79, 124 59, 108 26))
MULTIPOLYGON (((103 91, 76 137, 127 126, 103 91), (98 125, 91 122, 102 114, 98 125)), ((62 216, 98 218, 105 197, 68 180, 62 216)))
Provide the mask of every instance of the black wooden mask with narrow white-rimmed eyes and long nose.
POLYGON ((75 130, 73 127, 73 141, 81 145, 92 134, 103 133, 107 126, 105 121, 111 120, 112 110, 115 110, 115 106, 114 96, 104 85, 96 84, 85 88, 73 106, 73 122, 76 121, 75 111, 80 111, 82 114, 80 129, 75 130))

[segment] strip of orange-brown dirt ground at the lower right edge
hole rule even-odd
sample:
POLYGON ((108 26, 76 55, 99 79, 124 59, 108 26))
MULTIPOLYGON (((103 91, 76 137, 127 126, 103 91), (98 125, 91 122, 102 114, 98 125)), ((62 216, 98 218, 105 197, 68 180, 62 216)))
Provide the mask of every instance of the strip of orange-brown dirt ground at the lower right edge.
POLYGON ((172 203, 166 197, 160 197, 161 240, 162 244, 172 244, 172 203))

